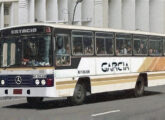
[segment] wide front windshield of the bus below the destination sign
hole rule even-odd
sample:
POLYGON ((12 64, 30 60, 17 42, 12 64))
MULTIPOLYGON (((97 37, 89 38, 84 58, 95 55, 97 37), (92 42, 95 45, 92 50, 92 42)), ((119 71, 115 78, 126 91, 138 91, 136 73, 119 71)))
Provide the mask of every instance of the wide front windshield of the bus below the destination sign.
POLYGON ((0 41, 0 67, 51 66, 51 36, 5 37, 0 41))

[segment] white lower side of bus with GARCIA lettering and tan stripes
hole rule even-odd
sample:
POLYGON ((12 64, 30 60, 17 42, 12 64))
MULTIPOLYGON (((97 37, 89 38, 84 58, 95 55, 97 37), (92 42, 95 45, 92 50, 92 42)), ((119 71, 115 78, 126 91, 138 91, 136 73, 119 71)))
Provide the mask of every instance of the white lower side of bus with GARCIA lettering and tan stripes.
MULTIPOLYGON (((77 77, 73 75, 71 78, 64 78, 61 74, 66 73, 65 75, 67 75, 71 73, 71 71, 67 73, 69 70, 56 70, 61 72, 59 74, 60 76, 58 76, 58 74, 56 75, 58 78, 56 85, 59 89, 67 89, 63 90, 65 94, 70 91, 71 93, 68 93, 69 96, 73 95, 76 83, 79 78, 82 77, 90 78, 92 93, 133 89, 135 88, 140 73, 148 74, 149 87, 164 85, 165 72, 163 72, 162 66, 159 65, 160 62, 157 62, 157 65, 152 63, 156 58, 157 57, 82 57, 78 68, 71 70, 74 75, 77 71, 77 77), (88 61, 88 63, 86 61, 88 61), (103 64, 104 66, 102 66, 103 64), (153 75, 155 75, 155 77, 153 77, 153 75), (63 88, 60 88, 60 86, 63 86, 63 88)), ((161 65, 165 64, 163 57, 158 59, 161 61, 161 65)), ((62 90, 60 91, 62 92, 62 90)))

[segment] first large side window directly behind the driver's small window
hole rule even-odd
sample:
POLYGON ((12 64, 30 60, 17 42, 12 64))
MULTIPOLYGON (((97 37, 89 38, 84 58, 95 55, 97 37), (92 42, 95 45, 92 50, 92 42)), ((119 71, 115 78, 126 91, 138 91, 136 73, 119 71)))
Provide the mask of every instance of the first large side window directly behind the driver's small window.
POLYGON ((88 31, 72 31, 72 45, 74 55, 93 55, 93 33, 88 31))

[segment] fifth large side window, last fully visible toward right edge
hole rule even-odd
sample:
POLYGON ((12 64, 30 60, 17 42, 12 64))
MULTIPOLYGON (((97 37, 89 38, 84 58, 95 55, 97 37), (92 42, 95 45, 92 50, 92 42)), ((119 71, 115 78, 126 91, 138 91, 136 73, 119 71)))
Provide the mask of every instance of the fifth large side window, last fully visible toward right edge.
POLYGON ((150 38, 149 40, 149 55, 161 55, 162 54, 162 40, 161 38, 150 38))

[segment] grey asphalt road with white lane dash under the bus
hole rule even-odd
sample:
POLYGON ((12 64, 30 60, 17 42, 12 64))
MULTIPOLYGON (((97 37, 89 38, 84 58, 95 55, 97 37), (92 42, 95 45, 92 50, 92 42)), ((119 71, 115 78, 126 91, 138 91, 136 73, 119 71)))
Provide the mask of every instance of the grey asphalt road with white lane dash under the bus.
POLYGON ((33 107, 26 99, 1 100, 0 120, 164 120, 165 86, 147 88, 133 97, 129 91, 93 95, 84 105, 46 100, 33 107), (129 93, 129 94, 128 94, 129 93))

